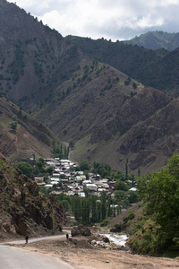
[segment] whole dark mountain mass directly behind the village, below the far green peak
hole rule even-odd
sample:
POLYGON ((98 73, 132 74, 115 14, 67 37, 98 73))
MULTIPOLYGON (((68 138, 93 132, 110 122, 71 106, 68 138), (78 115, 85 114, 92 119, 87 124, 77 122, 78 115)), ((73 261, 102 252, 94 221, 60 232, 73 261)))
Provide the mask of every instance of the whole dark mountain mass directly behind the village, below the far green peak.
POLYGON ((128 159, 144 173, 178 148, 177 49, 63 38, 5 0, 0 40, 1 94, 70 143, 75 161, 124 171, 128 159))

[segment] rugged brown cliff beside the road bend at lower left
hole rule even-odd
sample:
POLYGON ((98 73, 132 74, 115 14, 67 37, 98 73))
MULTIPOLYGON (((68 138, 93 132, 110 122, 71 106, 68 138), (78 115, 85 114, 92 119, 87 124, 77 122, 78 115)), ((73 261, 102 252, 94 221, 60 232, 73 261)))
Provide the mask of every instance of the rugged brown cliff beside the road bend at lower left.
POLYGON ((55 197, 39 193, 37 184, 0 153, 0 239, 56 233, 64 221, 55 197))

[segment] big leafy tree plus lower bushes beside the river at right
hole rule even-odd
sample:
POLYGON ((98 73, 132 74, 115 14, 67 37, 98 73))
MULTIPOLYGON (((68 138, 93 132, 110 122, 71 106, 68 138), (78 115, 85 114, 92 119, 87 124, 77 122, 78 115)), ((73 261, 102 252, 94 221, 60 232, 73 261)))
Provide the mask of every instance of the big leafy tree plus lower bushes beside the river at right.
POLYGON ((164 169, 138 179, 138 191, 147 221, 130 240, 141 254, 178 256, 179 250, 179 155, 164 169), (171 254, 172 253, 172 254, 171 254))

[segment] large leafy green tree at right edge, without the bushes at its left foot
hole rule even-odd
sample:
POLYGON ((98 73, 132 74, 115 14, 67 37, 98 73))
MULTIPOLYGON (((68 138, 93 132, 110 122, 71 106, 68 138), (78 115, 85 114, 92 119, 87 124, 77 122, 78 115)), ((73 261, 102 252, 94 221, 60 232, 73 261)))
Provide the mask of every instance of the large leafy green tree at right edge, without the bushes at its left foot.
POLYGON ((160 227, 158 245, 177 247, 179 244, 179 155, 175 154, 168 161, 165 169, 139 178, 138 189, 141 199, 147 204, 147 212, 160 227))

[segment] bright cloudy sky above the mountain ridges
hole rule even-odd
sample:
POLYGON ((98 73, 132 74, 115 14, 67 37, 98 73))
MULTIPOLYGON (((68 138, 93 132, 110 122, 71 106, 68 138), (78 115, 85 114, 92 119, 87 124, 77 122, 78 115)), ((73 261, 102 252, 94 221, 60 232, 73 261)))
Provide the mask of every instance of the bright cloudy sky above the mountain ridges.
POLYGON ((179 32, 179 0, 7 0, 64 37, 132 39, 149 30, 179 32))

